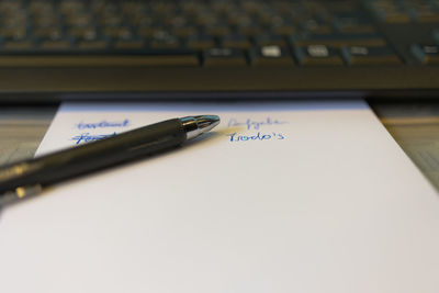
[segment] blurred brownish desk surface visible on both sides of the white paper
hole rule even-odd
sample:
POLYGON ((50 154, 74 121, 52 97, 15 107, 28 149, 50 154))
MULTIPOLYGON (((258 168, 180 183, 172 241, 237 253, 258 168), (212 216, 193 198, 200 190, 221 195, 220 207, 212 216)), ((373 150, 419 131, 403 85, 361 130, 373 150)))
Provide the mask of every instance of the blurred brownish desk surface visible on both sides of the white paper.
MULTIPOLYGON (((391 135, 439 190, 439 101, 372 102, 391 135)), ((0 165, 31 158, 56 106, 0 109, 0 165)))

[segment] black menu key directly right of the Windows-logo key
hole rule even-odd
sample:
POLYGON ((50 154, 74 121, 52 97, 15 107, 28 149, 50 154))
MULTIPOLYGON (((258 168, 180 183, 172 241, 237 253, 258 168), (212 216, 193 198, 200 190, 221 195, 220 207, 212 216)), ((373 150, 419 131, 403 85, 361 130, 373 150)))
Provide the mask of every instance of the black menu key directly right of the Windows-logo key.
POLYGON ((338 50, 325 45, 309 45, 295 49, 301 65, 344 65, 338 50))

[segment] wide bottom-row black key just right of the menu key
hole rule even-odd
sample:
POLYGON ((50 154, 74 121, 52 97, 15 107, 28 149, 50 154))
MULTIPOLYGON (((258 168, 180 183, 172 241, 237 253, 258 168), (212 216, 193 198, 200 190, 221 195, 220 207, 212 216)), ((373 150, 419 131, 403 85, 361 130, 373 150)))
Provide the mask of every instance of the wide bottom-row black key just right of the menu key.
POLYGON ((344 47, 341 54, 348 65, 401 64, 401 59, 389 47, 344 47))

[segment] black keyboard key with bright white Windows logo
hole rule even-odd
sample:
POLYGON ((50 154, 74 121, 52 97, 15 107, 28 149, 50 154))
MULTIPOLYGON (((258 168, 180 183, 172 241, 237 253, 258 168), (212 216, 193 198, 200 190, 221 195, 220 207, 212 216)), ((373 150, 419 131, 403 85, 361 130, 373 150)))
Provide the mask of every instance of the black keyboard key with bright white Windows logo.
POLYGON ((254 66, 293 66, 294 60, 286 48, 263 46, 251 50, 254 66))

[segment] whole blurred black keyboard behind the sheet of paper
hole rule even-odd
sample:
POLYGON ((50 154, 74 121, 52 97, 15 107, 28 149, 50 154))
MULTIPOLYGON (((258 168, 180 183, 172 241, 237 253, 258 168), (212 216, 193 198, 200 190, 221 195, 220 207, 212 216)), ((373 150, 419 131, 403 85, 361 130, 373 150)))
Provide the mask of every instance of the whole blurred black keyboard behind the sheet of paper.
POLYGON ((0 101, 435 97, 439 0, 0 1, 0 101))

